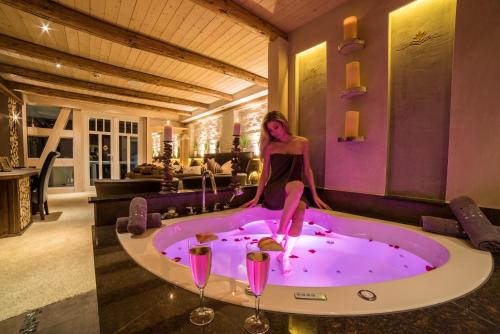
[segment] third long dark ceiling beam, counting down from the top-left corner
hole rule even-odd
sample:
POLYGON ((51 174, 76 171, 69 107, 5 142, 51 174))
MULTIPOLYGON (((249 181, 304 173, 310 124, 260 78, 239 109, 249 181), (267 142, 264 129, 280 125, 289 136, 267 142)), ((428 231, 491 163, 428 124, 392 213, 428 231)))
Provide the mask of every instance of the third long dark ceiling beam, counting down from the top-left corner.
POLYGON ((6 73, 6 74, 15 74, 15 75, 22 76, 24 78, 33 79, 33 80, 37 80, 37 81, 43 81, 46 83, 51 83, 51 84, 56 84, 56 85, 65 85, 65 86, 74 87, 74 88, 87 89, 87 90, 92 90, 92 91, 96 91, 96 92, 100 92, 100 93, 123 95, 125 97, 134 97, 134 98, 138 98, 138 99, 146 99, 146 100, 152 100, 152 101, 158 101, 158 102, 164 102, 164 103, 173 103, 173 104, 179 104, 179 105, 184 105, 184 106, 192 106, 192 107, 199 107, 199 108, 208 109, 208 104, 202 103, 202 102, 185 100, 185 99, 180 99, 180 98, 166 96, 166 95, 160 95, 160 94, 152 94, 152 93, 147 93, 147 92, 142 92, 142 91, 132 90, 132 89, 126 89, 126 88, 121 88, 121 87, 116 87, 116 86, 103 85, 103 84, 95 83, 95 82, 77 80, 77 79, 62 77, 62 76, 55 75, 55 74, 50 74, 50 73, 46 73, 46 72, 39 72, 39 71, 30 70, 27 68, 3 64, 3 63, 0 63, 0 72, 6 73))

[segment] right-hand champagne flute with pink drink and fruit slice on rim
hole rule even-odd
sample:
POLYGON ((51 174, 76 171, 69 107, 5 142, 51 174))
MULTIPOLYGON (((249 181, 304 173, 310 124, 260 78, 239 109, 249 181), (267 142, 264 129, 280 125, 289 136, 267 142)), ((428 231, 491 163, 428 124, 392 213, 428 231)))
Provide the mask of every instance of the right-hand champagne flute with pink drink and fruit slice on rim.
POLYGON ((269 276, 270 256, 259 249, 256 243, 248 243, 246 247, 246 265, 250 289, 255 295, 255 314, 245 320, 243 327, 251 334, 262 334, 269 330, 269 321, 260 312, 260 296, 267 284, 269 276))

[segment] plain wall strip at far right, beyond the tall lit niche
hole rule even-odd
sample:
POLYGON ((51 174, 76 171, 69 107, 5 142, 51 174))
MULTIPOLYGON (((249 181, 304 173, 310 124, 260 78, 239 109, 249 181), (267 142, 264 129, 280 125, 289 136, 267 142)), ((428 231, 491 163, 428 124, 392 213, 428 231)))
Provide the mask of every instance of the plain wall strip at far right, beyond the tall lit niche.
POLYGON ((458 1, 448 199, 500 208, 500 1, 458 1))

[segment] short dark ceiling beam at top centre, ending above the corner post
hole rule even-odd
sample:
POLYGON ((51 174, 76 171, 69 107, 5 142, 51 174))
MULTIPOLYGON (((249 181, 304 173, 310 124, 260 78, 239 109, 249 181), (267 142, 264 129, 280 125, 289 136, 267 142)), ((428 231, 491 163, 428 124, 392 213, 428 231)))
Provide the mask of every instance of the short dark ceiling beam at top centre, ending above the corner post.
MULTIPOLYGON (((3 1, 3 0, 1 0, 3 1)), ((16 0, 12 0, 16 1, 16 0)), ((231 0, 191 0, 192 2, 203 6, 217 14, 227 16, 229 19, 244 24, 252 30, 266 35, 270 40, 281 37, 285 40, 288 39, 287 34, 281 31, 271 23, 265 21, 254 13, 250 12, 245 7, 238 5, 231 0)))

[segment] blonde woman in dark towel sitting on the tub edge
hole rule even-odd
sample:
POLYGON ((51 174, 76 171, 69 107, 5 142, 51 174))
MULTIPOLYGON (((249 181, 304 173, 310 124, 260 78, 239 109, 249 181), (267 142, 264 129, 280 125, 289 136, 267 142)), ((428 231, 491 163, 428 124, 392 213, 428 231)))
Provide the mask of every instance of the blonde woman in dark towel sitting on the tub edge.
POLYGON ((302 174, 309 184, 315 204, 320 209, 331 208, 319 198, 309 162, 309 140, 291 134, 288 121, 279 111, 271 111, 262 120, 260 152, 264 169, 255 197, 241 207, 250 208, 264 195, 262 206, 270 210, 283 210, 277 234, 272 238, 284 244, 285 251, 278 255, 283 275, 290 275, 290 255, 297 242, 308 207, 303 196, 302 174))

